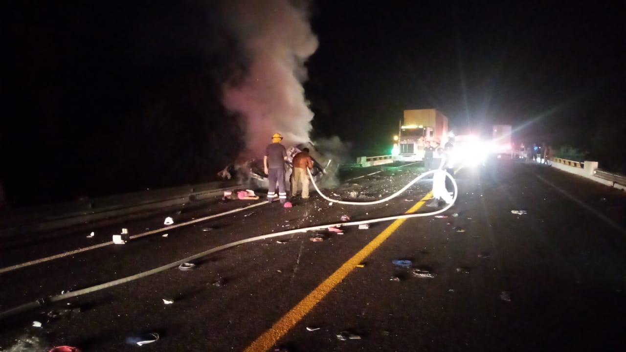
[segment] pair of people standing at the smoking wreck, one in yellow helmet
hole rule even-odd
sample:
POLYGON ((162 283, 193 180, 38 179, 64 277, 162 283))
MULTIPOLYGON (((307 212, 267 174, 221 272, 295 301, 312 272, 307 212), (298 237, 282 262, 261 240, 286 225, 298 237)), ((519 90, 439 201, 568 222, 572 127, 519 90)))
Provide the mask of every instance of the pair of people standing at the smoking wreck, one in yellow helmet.
MULTIPOLYGON (((287 160, 287 150, 280 144, 282 135, 274 133, 272 143, 265 148, 263 166, 269 185, 267 187, 267 201, 273 202, 276 195, 276 184, 278 183, 278 198, 281 204, 287 202, 287 190, 285 187, 285 161, 287 160)), ((302 184, 302 199, 309 199, 309 173, 313 168, 313 160, 309 155, 309 148, 303 148, 301 152, 294 155, 292 159, 293 171, 291 173, 291 196, 295 197, 298 186, 302 184)))

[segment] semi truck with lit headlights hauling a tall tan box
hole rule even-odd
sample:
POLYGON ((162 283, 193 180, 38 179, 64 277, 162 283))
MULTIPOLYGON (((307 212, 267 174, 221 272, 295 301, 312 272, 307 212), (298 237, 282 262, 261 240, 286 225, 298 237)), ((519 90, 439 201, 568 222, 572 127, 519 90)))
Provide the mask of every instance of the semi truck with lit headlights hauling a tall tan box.
POLYGON ((394 160, 420 161, 424 158, 424 142, 448 142, 448 118, 436 109, 404 110, 398 135, 398 155, 394 160))

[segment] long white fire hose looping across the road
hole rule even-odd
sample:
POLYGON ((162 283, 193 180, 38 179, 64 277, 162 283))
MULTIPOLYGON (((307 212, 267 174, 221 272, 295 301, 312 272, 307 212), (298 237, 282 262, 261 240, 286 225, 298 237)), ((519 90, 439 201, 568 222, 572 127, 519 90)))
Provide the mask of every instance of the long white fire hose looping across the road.
MULTIPOLYGON (((338 204, 370 205, 370 204, 378 204, 378 203, 381 203, 381 202, 386 202, 387 200, 390 200, 390 199, 392 199, 394 197, 397 197, 399 194, 401 194, 402 192, 407 190, 409 187, 411 187, 411 185, 413 185, 416 182, 418 182, 418 180, 421 180, 424 177, 426 177, 428 175, 431 175, 431 174, 433 174, 433 173, 435 173, 437 171, 444 172, 443 170, 432 170, 432 171, 429 171, 429 172, 424 172, 421 175, 419 175, 418 177, 416 177, 414 180, 409 182, 409 184, 406 185, 405 187, 403 187, 403 189, 399 190, 398 192, 394 193, 393 195, 391 195, 391 196, 389 196, 387 198, 384 198, 384 199, 381 199, 381 200, 376 200, 376 202, 363 202, 363 203, 361 203, 361 202, 344 202, 344 201, 341 201, 341 200, 330 199, 329 197, 326 197, 326 195, 322 194, 322 192, 320 192, 320 190, 317 188, 317 184, 315 183, 315 181, 313 181, 313 185, 314 185, 315 189, 317 190, 317 192, 319 192, 319 194, 324 199, 329 200, 330 202, 336 202, 338 204)), ((119 284, 124 284, 126 282, 130 282, 130 281, 133 281, 133 280, 136 280, 136 279, 141 279, 141 277, 150 276, 150 275, 156 274, 158 272, 165 271, 167 269, 172 269, 174 267, 180 266, 180 264, 183 264, 185 262, 191 262, 191 261, 194 261, 194 260, 199 259, 201 257, 208 256, 209 254, 213 254, 215 252, 223 251, 223 250, 231 248, 231 247, 239 246, 240 244, 246 244, 246 243, 250 243, 250 242, 255 242, 255 241, 260 241, 260 240, 264 240, 264 239, 270 239, 270 238, 273 238, 273 237, 285 236, 285 235, 290 235, 290 234, 298 234, 298 233, 307 232, 307 231, 324 230, 324 229, 327 229, 328 227, 334 227, 334 226, 355 226, 355 225, 362 225, 362 224, 372 224, 372 223, 375 223, 375 222, 384 222, 384 221, 389 221, 389 220, 409 219, 411 217, 425 217, 425 216, 432 216, 432 215, 436 215, 436 214, 441 214, 441 213, 445 212, 446 210, 448 210, 450 207, 452 207, 452 205, 454 205, 454 202, 456 202, 456 198, 458 196, 458 187, 456 185, 456 181, 454 180, 452 175, 450 175, 448 172, 446 172, 446 176, 449 177, 452 180, 452 184, 454 186, 453 200, 452 200, 452 202, 450 204, 446 205, 446 207, 444 207, 443 209, 439 209, 439 210, 436 210, 434 212, 420 213, 420 214, 394 215, 394 216, 389 216, 389 217, 381 217, 379 219, 370 219, 370 220, 361 220, 361 221, 336 222, 334 224, 326 224, 326 225, 316 225, 316 226, 310 226, 310 227, 303 227, 303 228, 300 228, 300 229, 292 229, 292 230, 276 232, 274 234, 266 234, 266 235, 261 235, 261 236, 250 237, 250 238, 247 238, 247 239, 242 239, 240 241, 235 241, 235 242, 230 242, 228 244, 223 244, 222 246, 214 247, 212 249, 209 249, 208 251, 200 252, 198 254, 194 254, 193 256, 187 257, 185 259, 180 259, 180 261, 172 262, 170 264, 165 264, 164 266, 160 266, 160 267, 156 267, 155 269, 151 269, 151 270, 148 270, 148 271, 140 272, 139 274, 135 274, 135 275, 123 277, 121 279, 105 282, 103 284, 99 284, 99 285, 96 285, 96 286, 87 287, 85 289, 80 289, 78 291, 71 291, 71 292, 66 292, 66 293, 63 293, 63 294, 58 294, 56 296, 51 296, 48 299, 40 298, 40 299, 37 299, 36 301, 30 302, 30 303, 26 303, 26 304, 22 304, 21 306, 18 306, 18 307, 13 308, 13 309, 9 309, 8 311, 0 312, 0 319, 7 318, 9 316, 13 316, 13 315, 18 314, 18 313, 22 313, 22 312, 27 311, 29 309, 33 309, 33 308, 37 308, 39 306, 43 306, 46 303, 54 303, 54 302, 62 301, 64 299, 73 298, 73 297, 76 297, 76 296, 81 296, 83 294, 88 294, 88 293, 91 293, 91 292, 100 291, 101 289, 106 289, 108 287, 113 287, 113 286, 116 286, 116 285, 119 285, 119 284)))

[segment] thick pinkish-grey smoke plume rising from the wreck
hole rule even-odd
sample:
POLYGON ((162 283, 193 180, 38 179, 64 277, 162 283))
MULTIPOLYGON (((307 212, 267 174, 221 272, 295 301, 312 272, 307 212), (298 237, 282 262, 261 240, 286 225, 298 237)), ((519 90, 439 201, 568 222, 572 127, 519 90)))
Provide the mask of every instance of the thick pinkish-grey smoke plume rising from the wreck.
POLYGON ((242 117, 247 154, 260 156, 281 133, 308 142, 313 113, 304 97, 305 62, 317 49, 307 6, 289 0, 227 0, 230 31, 245 54, 244 76, 223 84, 223 104, 242 117))

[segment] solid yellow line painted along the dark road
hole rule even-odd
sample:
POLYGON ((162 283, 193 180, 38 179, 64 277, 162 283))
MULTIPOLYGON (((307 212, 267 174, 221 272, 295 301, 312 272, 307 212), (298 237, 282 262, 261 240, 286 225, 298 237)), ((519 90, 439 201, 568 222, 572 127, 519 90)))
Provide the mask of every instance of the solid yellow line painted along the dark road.
MULTIPOLYGON (((432 192, 429 192, 419 200, 416 204, 411 207, 411 209, 407 210, 405 214, 410 214, 416 212, 427 199, 430 199, 432 196, 432 192)), ((277 341, 282 338, 291 328, 297 324, 300 319, 304 318, 304 316, 309 313, 314 306, 316 306, 319 301, 321 301, 332 289, 334 289, 339 282, 341 282, 347 274, 349 274, 354 268, 361 264, 363 259, 365 259, 369 254, 371 254, 374 249, 382 244, 395 230, 400 227, 404 223, 406 219, 398 219, 395 220, 391 225, 389 225, 384 231, 382 231, 376 238, 374 238, 371 242, 369 242, 361 251, 354 254, 353 257, 348 259, 337 271, 333 272, 331 276, 329 276, 324 282, 319 284, 313 291, 311 291, 300 303, 296 304, 294 308, 292 308, 287 314, 282 316, 272 328, 265 331, 261 334, 257 339, 254 340, 248 348, 245 349, 245 352, 265 352, 268 349, 272 348, 277 341)))

